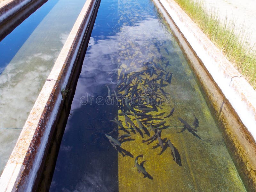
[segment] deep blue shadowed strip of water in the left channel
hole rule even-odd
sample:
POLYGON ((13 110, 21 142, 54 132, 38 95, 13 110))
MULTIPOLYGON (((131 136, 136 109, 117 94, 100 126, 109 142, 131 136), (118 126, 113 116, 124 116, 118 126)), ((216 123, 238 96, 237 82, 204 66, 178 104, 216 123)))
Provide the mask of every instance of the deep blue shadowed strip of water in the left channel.
POLYGON ((58 1, 47 1, 0 42, 0 74, 58 1))

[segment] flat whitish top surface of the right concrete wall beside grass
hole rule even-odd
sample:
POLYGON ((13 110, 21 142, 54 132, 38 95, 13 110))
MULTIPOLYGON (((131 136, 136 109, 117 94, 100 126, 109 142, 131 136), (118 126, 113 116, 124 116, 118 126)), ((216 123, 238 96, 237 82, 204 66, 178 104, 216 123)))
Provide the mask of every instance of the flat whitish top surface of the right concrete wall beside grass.
POLYGON ((174 0, 160 0, 221 92, 256 140, 256 92, 174 0), (237 81, 239 79, 239 81, 237 81))

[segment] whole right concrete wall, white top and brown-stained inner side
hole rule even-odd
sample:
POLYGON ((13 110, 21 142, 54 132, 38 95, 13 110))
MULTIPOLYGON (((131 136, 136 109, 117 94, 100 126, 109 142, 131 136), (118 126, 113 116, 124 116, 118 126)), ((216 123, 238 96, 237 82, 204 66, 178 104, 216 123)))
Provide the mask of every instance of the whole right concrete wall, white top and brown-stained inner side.
POLYGON ((236 168, 256 191, 256 92, 174 0, 154 0, 210 99, 236 168))

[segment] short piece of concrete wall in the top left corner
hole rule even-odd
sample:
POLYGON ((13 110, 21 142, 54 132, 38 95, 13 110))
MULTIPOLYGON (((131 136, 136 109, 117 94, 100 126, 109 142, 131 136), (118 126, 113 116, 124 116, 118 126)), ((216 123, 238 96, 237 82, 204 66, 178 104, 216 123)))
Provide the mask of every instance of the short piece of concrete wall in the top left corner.
POLYGON ((37 0, 13 0, 7 4, 3 4, 2 7, 0 7, 0 23, 5 22, 14 14, 34 1, 37 0))

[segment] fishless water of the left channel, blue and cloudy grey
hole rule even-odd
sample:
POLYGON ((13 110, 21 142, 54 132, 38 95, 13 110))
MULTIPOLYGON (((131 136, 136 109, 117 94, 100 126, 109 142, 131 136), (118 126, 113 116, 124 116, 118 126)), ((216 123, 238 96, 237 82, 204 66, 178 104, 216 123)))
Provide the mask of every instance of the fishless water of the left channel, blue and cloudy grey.
POLYGON ((0 173, 85 0, 49 0, 0 42, 0 173))

